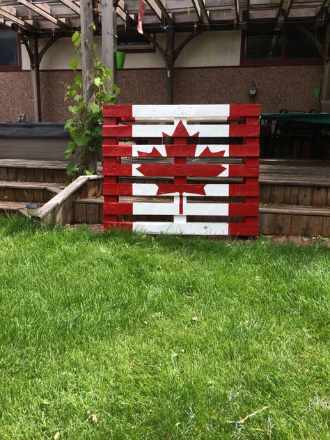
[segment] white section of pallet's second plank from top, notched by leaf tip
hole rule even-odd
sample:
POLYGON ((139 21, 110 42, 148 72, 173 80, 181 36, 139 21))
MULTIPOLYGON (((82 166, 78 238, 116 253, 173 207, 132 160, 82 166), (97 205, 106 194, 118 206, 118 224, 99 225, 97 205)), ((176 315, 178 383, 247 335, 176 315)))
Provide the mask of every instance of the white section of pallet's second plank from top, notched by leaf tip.
MULTIPOLYGON (((172 136, 175 125, 132 125, 132 137, 165 137, 172 136), (165 136, 164 136, 164 134, 165 136)), ((228 137, 229 125, 186 125, 189 136, 198 133, 199 137, 228 137)))

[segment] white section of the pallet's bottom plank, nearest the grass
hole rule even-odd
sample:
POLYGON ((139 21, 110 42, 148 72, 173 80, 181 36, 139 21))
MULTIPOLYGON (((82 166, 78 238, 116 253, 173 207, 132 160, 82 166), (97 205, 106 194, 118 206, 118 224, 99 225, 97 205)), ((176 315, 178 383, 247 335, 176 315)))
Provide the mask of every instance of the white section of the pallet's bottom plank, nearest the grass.
POLYGON ((148 234, 228 235, 228 223, 135 221, 133 230, 148 234))

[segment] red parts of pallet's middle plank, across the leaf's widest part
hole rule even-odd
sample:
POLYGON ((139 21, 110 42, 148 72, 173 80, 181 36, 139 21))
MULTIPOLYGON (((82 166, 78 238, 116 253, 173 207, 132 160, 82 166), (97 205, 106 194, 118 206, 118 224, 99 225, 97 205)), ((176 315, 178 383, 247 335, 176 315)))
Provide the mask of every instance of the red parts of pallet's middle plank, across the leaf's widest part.
MULTIPOLYGON (((222 173, 226 176, 227 167, 221 164, 140 164, 136 168, 139 173, 148 177, 217 177, 222 173)), ((104 175, 132 176, 132 164, 109 164, 107 158, 103 163, 104 175)), ((135 174, 134 174, 135 175, 135 174)), ((230 164, 228 177, 258 177, 259 168, 252 168, 244 164, 230 164)))

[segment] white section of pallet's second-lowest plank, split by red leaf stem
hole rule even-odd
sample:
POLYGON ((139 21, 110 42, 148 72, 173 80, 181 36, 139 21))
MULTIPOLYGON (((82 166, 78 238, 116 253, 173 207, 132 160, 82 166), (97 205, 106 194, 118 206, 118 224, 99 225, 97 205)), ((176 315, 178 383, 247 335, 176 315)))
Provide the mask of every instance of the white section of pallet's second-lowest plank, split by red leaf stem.
MULTIPOLYGON (((183 215, 228 215, 228 203, 183 203, 183 215)), ((179 216, 179 203, 133 202, 133 215, 179 216)))

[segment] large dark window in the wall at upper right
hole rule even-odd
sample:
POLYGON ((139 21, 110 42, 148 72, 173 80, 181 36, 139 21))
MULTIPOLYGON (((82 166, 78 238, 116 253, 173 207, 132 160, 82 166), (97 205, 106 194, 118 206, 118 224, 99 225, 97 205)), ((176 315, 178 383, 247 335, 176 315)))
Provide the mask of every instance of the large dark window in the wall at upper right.
POLYGON ((244 61, 281 64, 292 60, 315 60, 322 58, 317 49, 317 40, 322 43, 323 31, 311 31, 308 35, 296 28, 284 30, 249 30, 245 33, 244 61))

